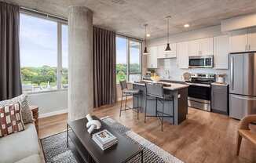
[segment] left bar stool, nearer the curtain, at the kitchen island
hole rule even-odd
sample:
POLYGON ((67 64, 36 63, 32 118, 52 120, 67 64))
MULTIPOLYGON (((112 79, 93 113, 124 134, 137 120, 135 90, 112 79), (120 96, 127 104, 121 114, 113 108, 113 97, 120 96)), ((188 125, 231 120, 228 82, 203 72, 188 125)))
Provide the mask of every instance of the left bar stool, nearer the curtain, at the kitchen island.
POLYGON ((137 110, 137 119, 139 119, 139 112, 140 112, 139 108, 141 109, 141 106, 139 106, 139 98, 141 97, 141 90, 140 89, 128 89, 126 80, 120 81, 120 85, 121 85, 122 97, 121 97, 121 107, 120 107, 119 117, 121 117, 122 111, 129 110, 129 109, 136 109, 137 110), (126 105, 128 96, 133 96, 133 97, 136 96, 137 97, 137 107, 129 107, 126 105), (124 109, 122 109, 123 97, 126 97, 124 109))

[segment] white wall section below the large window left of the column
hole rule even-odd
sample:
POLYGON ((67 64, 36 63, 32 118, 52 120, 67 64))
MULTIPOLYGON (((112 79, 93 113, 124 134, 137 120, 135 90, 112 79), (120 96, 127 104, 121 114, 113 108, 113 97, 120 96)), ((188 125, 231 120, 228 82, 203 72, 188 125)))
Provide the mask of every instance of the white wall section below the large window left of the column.
POLYGON ((31 105, 39 107, 39 117, 61 114, 68 111, 68 90, 28 94, 31 105))

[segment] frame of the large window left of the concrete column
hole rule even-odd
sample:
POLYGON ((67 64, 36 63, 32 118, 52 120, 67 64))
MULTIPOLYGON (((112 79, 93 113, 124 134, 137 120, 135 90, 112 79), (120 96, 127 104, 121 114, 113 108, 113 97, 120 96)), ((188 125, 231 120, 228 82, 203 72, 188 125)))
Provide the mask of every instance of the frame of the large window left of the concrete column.
MULTIPOLYGON (((57 91, 64 91, 68 90, 68 88, 62 88, 61 78, 62 78, 62 26, 67 25, 68 21, 55 18, 53 16, 47 16, 41 13, 34 13, 31 11, 26 11, 24 9, 20 10, 20 14, 24 14, 27 16, 36 17, 43 20, 49 20, 57 23, 57 89, 52 90, 42 90, 42 91, 34 91, 34 92, 26 92, 27 94, 38 94, 38 93, 45 93, 45 92, 57 92, 57 91)), ((21 69, 21 67, 20 67, 21 69)), ((21 75, 21 74, 20 74, 21 75)), ((21 81, 22 84, 22 81, 21 81)))

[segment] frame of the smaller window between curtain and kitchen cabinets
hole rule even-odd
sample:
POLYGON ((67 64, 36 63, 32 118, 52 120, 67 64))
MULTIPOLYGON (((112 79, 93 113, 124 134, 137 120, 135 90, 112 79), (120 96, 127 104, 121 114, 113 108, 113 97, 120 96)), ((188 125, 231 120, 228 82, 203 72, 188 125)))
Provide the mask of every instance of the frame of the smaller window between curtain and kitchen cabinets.
MULTIPOLYGON (((126 81, 130 82, 130 74, 141 74, 142 78, 142 41, 138 40, 136 38, 130 38, 121 34, 116 34, 116 38, 125 38, 126 39, 126 65, 127 65, 127 70, 126 70, 126 81), (139 42, 140 43, 140 56, 139 56, 139 63, 140 63, 140 72, 139 73, 130 73, 130 42, 139 42)), ((117 56, 116 56, 117 57, 117 56)), ((116 64, 116 63, 115 63, 116 64)), ((119 85, 119 83, 116 83, 119 85)))

